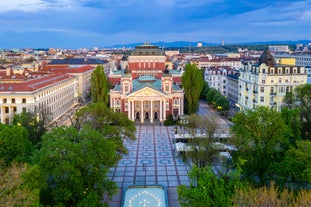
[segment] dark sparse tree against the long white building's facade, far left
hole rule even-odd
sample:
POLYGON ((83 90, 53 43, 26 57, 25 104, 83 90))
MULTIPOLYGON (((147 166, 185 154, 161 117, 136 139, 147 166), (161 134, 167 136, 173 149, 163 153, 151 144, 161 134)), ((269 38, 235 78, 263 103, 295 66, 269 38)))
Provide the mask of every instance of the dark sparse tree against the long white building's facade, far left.
POLYGON ((38 145, 42 135, 46 132, 44 119, 38 119, 37 115, 31 112, 16 114, 13 117, 13 124, 25 127, 33 145, 38 145))

